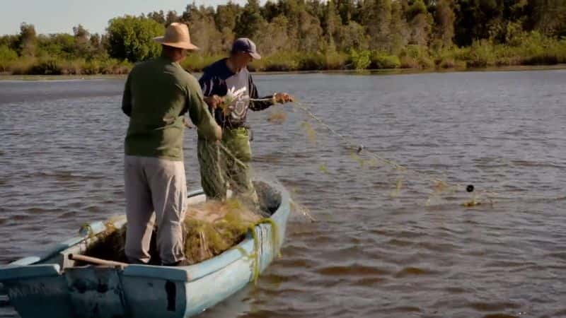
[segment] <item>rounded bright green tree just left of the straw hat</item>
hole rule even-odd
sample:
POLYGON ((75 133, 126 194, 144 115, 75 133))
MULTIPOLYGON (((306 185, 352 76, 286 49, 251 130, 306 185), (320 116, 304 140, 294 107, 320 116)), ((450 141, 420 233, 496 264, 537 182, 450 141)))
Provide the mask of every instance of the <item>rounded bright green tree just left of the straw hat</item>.
POLYGON ((113 18, 106 30, 110 57, 144 61, 160 52, 153 38, 163 35, 164 28, 155 20, 135 16, 113 18))

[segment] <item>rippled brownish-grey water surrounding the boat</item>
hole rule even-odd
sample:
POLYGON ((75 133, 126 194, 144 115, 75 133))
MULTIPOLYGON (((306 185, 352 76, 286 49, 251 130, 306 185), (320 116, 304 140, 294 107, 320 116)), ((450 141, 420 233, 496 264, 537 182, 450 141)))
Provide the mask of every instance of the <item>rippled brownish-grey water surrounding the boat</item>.
MULTIPOLYGON (((202 317, 566 317, 566 71, 262 75, 337 131, 403 165, 495 189, 458 192, 361 167, 323 129, 250 115, 255 169, 318 223, 289 222, 282 259, 202 317), (325 169, 321 169, 321 165, 325 169), (548 199, 544 199, 548 198, 548 199)), ((0 82, 0 263, 124 211, 122 80, 0 82)), ((185 167, 197 188, 196 136, 185 167)), ((4 298, 5 300, 5 298, 4 298)), ((1 296, 0 296, 1 304, 1 296)), ((0 307, 0 317, 17 317, 0 307)))

